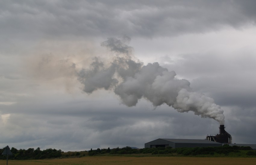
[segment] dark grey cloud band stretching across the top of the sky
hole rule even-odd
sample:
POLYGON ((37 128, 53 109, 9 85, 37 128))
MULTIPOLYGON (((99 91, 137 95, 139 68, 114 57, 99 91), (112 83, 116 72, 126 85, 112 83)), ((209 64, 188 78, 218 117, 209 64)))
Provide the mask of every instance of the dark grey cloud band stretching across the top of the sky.
POLYGON ((254 1, 1 1, 9 37, 176 36, 255 23, 254 1))

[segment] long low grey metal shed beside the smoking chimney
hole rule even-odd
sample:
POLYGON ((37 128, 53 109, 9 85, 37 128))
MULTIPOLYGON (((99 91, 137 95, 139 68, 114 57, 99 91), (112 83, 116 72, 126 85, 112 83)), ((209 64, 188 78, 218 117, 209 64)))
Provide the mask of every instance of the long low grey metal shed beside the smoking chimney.
POLYGON ((222 146, 221 143, 200 140, 200 139, 157 139, 151 142, 145 143, 145 148, 155 148, 155 147, 217 147, 222 146))

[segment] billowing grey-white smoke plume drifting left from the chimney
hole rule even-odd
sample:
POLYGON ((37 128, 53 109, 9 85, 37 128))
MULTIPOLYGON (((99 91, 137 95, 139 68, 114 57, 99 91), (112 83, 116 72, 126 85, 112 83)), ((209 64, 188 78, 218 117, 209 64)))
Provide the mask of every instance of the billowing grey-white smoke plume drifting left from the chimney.
POLYGON ((189 81, 176 79, 174 71, 168 71, 158 63, 143 66, 142 62, 134 60, 132 48, 125 44, 127 41, 130 41, 129 37, 108 38, 101 44, 113 52, 114 60, 106 65, 95 58, 89 69, 78 73, 84 92, 92 93, 102 88, 113 90, 129 107, 145 98, 155 107, 167 104, 178 112, 193 111, 224 124, 223 110, 212 98, 193 92, 189 81))

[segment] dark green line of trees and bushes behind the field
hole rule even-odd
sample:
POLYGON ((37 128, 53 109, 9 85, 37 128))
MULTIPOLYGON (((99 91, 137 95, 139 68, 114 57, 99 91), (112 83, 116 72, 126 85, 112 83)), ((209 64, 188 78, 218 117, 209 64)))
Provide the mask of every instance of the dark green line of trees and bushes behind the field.
MULTIPOLYGON (((5 148, 0 149, 0 154, 3 153, 5 148)), ((143 148, 143 149, 133 149, 130 146, 126 146, 123 148, 114 148, 110 149, 91 149, 87 151, 81 152, 62 152, 57 149, 45 149, 41 150, 39 147, 37 149, 29 148, 29 149, 15 149, 11 148, 12 156, 8 156, 8 159, 13 160, 33 160, 33 159, 52 159, 52 158, 65 158, 65 157, 82 157, 82 156, 97 156, 97 155, 139 155, 147 156, 151 155, 173 155, 173 156, 200 156, 200 155, 224 155, 228 156, 231 153, 235 153, 236 156, 242 157, 255 157, 256 151, 253 151, 249 146, 229 146, 224 145, 220 147, 195 147, 195 148, 176 148, 172 147, 158 147, 158 148, 143 148), (242 152, 244 151, 244 152, 242 152)), ((0 159, 6 159, 6 155, 0 155, 0 159)))

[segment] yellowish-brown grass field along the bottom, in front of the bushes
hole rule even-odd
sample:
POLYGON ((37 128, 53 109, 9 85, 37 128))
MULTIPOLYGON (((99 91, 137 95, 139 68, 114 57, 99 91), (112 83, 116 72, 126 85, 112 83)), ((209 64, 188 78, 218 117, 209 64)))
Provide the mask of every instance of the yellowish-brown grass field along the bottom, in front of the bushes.
MULTIPOLYGON (((256 158, 195 158, 195 157, 120 157, 95 156, 51 160, 9 160, 8 165, 255 165, 256 158)), ((6 165, 6 160, 0 160, 6 165)))

